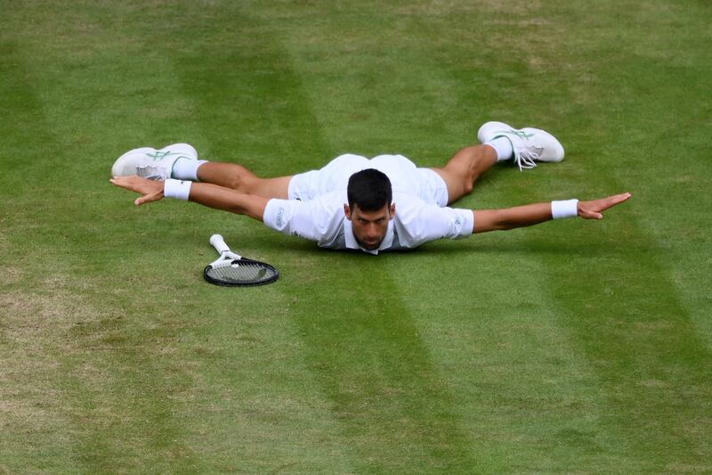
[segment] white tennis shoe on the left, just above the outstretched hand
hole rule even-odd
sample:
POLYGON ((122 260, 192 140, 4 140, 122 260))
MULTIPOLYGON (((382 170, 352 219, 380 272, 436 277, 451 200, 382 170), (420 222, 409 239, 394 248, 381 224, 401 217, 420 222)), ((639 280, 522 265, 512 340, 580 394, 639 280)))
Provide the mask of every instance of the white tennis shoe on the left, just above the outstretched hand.
POLYGON ((171 177, 175 162, 198 160, 198 152, 188 143, 173 143, 160 150, 142 147, 125 152, 111 167, 111 176, 142 176, 163 181, 171 177))

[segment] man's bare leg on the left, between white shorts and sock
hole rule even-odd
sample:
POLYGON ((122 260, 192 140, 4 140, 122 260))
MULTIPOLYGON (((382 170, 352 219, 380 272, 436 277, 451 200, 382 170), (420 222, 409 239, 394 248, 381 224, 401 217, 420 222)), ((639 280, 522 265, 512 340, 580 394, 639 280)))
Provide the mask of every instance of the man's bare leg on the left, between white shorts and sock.
POLYGON ((263 198, 287 200, 289 181, 292 176, 260 178, 247 168, 236 163, 208 161, 198 168, 198 180, 204 183, 219 184, 247 194, 263 198))

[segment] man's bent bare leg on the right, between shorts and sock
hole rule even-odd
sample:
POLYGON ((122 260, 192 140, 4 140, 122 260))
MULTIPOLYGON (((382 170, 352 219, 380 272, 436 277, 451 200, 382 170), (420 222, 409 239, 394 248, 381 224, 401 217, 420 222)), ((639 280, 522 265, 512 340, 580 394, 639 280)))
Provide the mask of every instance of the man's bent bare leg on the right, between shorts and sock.
POLYGON ((497 163, 490 145, 472 145, 457 152, 442 168, 432 168, 448 186, 448 204, 473 191, 474 182, 497 163))

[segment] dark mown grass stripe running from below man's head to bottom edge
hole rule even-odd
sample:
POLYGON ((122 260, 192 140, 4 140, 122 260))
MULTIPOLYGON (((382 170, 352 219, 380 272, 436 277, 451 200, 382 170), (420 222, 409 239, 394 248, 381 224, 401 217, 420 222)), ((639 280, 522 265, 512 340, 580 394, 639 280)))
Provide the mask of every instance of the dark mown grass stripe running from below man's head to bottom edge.
POLYGON ((471 470, 472 440, 402 301, 401 282, 389 277, 398 256, 336 258, 323 283, 329 291, 300 292, 292 312, 356 466, 471 470))

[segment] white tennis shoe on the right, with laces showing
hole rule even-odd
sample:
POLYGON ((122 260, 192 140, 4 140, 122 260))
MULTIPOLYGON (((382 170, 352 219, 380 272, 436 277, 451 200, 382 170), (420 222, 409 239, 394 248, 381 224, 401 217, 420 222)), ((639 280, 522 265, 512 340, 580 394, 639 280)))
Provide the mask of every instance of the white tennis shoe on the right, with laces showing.
POLYGON ((477 131, 477 139, 481 143, 506 137, 514 149, 514 162, 519 169, 535 168, 537 161, 558 162, 563 160, 563 146, 545 130, 524 127, 516 129, 504 122, 486 122, 477 131))

